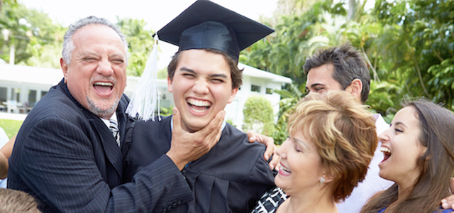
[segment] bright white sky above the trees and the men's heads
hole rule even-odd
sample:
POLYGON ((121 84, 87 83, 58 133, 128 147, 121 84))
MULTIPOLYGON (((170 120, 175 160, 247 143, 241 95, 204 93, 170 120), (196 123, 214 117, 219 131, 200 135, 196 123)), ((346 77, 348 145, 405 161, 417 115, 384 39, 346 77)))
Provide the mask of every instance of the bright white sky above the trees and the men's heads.
MULTIPOLYGON (((172 21, 195 0, 18 0, 28 9, 36 9, 62 26, 86 16, 107 18, 116 23, 120 18, 143 19, 148 23, 147 30, 157 31, 172 21)), ((277 7, 278 0, 211 0, 216 4, 236 11, 243 16, 258 21, 260 16, 270 17, 277 7)), ((162 69, 170 62, 170 57, 178 50, 175 45, 165 42, 160 44, 160 61, 162 69)), ((147 53, 150 54, 150 53, 147 53)))

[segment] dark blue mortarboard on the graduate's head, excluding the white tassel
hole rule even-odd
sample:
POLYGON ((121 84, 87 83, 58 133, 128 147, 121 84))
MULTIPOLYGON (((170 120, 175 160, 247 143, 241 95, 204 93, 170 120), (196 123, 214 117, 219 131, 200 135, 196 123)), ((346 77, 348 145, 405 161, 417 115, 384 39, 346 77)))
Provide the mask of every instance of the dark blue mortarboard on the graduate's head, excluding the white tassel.
POLYGON ((273 31, 211 1, 199 0, 157 31, 157 35, 160 40, 179 46, 179 50, 212 48, 238 62, 240 50, 273 31))

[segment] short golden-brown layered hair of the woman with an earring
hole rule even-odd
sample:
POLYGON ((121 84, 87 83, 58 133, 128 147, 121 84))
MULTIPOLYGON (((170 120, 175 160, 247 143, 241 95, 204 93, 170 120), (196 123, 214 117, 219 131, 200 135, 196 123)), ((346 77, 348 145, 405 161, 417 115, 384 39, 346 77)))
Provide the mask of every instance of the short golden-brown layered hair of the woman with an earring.
POLYGON ((288 124, 290 135, 302 131, 314 142, 323 168, 334 178, 333 200, 345 200, 364 180, 377 148, 372 114, 351 94, 331 91, 307 95, 288 124))

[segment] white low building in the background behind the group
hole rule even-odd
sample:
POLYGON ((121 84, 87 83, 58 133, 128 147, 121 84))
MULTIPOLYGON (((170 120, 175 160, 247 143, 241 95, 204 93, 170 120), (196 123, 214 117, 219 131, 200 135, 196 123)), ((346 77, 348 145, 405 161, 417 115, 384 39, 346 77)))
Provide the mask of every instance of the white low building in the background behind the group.
MULTIPOLYGON (((248 65, 239 64, 243 69, 243 85, 238 90, 236 98, 226 107, 226 119, 233 121, 237 127, 243 125, 243 107, 246 99, 253 95, 261 95, 270 100, 275 114, 279 111, 279 94, 272 91, 281 89, 282 84, 292 82, 288 77, 282 77, 270 72, 258 70, 248 65)), ((0 110, 10 110, 16 113, 26 113, 50 87, 62 80, 63 74, 60 69, 28 67, 21 65, 0 64, 0 110)), ((131 97, 139 77, 128 76, 128 86, 125 94, 131 97)), ((159 80, 160 104, 162 107, 175 106, 172 94, 167 91, 167 80, 159 80)))

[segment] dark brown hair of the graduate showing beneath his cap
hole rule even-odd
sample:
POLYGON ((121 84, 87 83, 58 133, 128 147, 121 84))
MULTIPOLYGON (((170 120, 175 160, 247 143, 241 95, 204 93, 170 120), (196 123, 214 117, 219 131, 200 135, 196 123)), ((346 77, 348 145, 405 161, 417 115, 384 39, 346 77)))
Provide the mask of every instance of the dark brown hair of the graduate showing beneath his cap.
MULTIPOLYGON (((226 62, 228 63, 228 66, 230 67, 230 72, 231 72, 231 78, 232 78, 232 89, 239 88, 241 87, 241 84, 243 84, 243 70, 238 69, 238 62, 233 60, 230 56, 227 55, 227 53, 224 53, 221 50, 216 50, 216 49, 202 49, 210 53, 216 53, 216 54, 221 54, 223 57, 226 59, 226 62)), ((184 50, 183 50, 184 51, 184 50)), ((170 78, 170 80, 173 79, 173 75, 175 75, 175 70, 177 69, 177 65, 179 62, 179 57, 182 51, 178 51, 175 53, 175 55, 172 57, 172 60, 170 61, 169 65, 167 66, 167 76, 170 78)))

